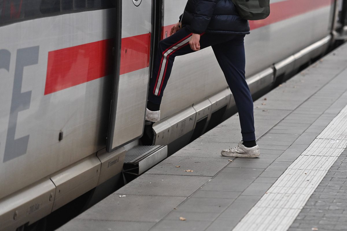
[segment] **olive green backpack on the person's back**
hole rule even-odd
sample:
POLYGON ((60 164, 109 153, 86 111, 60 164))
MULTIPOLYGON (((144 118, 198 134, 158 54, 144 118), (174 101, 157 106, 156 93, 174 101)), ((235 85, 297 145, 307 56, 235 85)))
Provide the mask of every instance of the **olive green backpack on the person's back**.
POLYGON ((270 0, 231 0, 239 15, 247 20, 261 20, 270 15, 270 0))

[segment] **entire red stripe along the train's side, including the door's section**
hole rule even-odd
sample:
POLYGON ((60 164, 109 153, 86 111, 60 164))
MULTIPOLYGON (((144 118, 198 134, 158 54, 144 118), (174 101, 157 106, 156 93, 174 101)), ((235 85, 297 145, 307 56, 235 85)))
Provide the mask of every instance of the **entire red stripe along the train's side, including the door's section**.
MULTIPOLYGON (((306 12, 331 5, 335 0, 286 0, 271 3, 271 14, 259 21, 250 21, 251 29, 267 26, 306 12)), ((162 37, 173 25, 162 28, 162 37)), ((168 35, 169 36, 169 35, 168 35)), ((114 39, 87 43, 48 52, 44 94, 98 79, 112 73, 114 39)), ((122 38, 120 74, 149 66, 150 34, 122 38)))

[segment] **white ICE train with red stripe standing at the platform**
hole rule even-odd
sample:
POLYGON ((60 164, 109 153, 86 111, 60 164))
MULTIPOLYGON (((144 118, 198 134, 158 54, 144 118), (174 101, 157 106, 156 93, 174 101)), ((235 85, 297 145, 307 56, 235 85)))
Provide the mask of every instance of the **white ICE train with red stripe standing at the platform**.
MULTIPOLYGON (((270 3, 245 37, 254 97, 346 40, 346 0, 270 3)), ((176 57, 161 121, 145 122, 156 48, 185 5, 0 1, 0 230, 28 230, 87 192, 95 202, 235 113, 205 48, 176 57)))

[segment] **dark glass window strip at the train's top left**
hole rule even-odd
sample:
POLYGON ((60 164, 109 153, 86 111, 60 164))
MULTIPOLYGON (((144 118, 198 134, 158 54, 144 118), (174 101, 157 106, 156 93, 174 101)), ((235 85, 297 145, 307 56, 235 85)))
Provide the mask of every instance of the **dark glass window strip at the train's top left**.
POLYGON ((0 26, 34 18, 112 8, 115 0, 0 0, 0 26))

